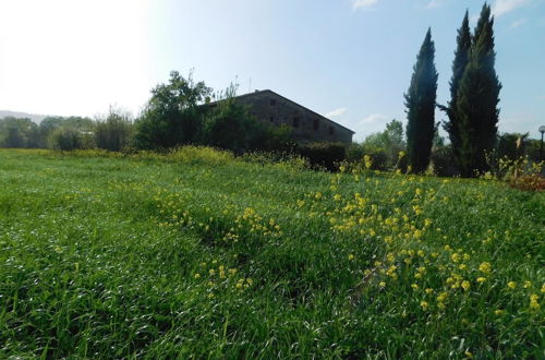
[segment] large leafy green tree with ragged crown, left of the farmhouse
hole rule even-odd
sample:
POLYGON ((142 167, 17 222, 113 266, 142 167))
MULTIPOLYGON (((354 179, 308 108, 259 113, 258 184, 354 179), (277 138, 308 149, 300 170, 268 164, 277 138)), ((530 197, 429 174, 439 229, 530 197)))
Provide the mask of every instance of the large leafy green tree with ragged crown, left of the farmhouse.
POLYGON ((211 89, 204 82, 195 83, 177 71, 168 84, 152 89, 152 98, 136 121, 135 145, 141 148, 167 148, 195 143, 202 130, 201 107, 211 89))

